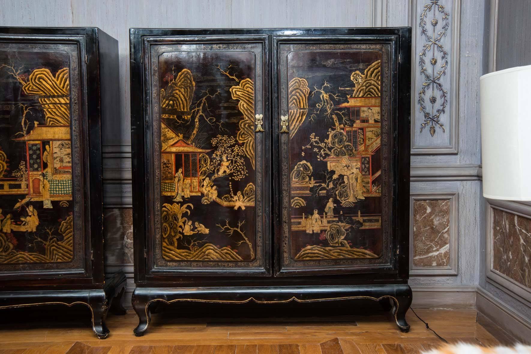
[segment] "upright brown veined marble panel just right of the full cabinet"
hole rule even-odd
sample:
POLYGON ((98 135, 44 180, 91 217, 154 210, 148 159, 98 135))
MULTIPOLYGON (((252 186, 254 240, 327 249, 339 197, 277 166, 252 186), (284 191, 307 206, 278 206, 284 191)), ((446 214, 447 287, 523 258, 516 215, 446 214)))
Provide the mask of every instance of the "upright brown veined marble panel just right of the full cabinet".
POLYGON ((450 200, 413 201, 413 266, 450 264, 450 200))

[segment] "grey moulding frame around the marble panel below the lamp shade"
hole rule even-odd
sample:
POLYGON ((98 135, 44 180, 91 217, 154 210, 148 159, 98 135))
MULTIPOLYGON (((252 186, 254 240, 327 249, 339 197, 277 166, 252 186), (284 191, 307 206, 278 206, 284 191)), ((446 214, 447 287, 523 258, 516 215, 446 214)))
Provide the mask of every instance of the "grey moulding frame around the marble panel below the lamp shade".
POLYGON ((523 218, 531 218, 531 206, 518 202, 502 201, 495 199, 485 198, 485 275, 489 283, 496 287, 503 288, 517 298, 523 299, 528 303, 531 303, 531 289, 524 284, 517 282, 516 280, 508 277, 496 271, 493 264, 493 241, 494 241, 494 228, 493 217, 494 209, 502 210, 511 214, 518 215, 523 218))

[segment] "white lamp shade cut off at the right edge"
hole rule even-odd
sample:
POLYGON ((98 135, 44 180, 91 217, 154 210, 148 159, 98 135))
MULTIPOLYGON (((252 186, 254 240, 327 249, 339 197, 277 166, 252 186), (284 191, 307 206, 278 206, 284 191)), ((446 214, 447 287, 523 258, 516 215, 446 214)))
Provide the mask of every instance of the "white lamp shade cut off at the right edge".
POLYGON ((481 76, 483 196, 531 201, 531 65, 481 76))

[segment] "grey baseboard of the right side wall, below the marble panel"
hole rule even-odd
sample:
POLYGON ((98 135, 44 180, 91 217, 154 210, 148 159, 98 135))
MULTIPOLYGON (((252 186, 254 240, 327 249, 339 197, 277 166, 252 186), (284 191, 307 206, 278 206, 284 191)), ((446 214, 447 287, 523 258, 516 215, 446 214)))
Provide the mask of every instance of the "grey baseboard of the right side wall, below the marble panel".
POLYGON ((477 311, 522 343, 531 343, 531 322, 515 309, 477 288, 477 311))

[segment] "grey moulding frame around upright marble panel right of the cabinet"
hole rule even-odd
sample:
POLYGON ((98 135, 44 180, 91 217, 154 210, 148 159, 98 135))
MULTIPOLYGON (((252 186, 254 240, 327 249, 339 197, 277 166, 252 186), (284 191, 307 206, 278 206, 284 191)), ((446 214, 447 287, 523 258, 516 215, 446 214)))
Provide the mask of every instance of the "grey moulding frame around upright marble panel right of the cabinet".
POLYGON ((409 274, 410 275, 457 275, 459 264, 459 193, 456 191, 412 192, 409 196, 409 274), (450 201, 450 262, 448 266, 415 267, 413 265, 413 204, 415 200, 449 200, 450 201))

